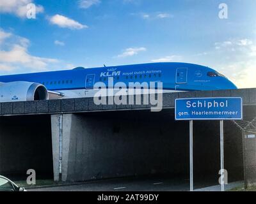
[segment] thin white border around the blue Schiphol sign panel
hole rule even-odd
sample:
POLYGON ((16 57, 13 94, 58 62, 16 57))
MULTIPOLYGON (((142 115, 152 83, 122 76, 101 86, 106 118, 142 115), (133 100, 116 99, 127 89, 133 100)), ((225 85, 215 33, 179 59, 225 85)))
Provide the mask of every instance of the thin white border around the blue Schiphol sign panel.
POLYGON ((179 121, 179 120, 243 120, 243 98, 241 97, 210 97, 210 98, 177 98, 175 99, 175 120, 179 121), (241 118, 233 118, 233 119, 227 119, 227 118, 214 118, 214 119, 209 119, 209 118, 204 118, 204 119, 177 119, 177 115, 176 115, 176 105, 177 105, 177 101, 179 100, 184 100, 184 99, 226 99, 226 98, 232 98, 232 99, 241 99, 241 118))

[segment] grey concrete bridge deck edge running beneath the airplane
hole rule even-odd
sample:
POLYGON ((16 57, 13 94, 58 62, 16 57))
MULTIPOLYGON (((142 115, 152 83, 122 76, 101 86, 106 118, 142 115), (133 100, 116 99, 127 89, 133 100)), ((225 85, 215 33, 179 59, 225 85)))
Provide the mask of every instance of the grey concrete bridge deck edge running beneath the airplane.
MULTIPOLYGON (((207 97, 242 97, 244 105, 256 105, 255 89, 237 89, 221 91, 194 91, 175 92, 163 94, 163 108, 174 108, 177 98, 207 98, 207 97)), ((127 99, 128 100, 128 99, 127 99)), ((135 100, 134 100, 135 101, 135 100)), ((127 103, 129 104, 129 103, 127 103)), ((24 101, 1 103, 0 116, 8 115, 36 115, 36 114, 60 114, 95 111, 116 111, 150 109, 151 105, 95 105, 93 98, 57 99, 47 101, 24 101)))

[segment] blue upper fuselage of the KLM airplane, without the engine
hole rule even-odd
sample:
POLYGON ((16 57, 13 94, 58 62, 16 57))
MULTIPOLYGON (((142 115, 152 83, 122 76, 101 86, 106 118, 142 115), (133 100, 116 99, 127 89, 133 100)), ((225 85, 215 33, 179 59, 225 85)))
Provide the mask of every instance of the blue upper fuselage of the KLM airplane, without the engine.
MULTIPOLYGON (((123 82, 127 87, 129 82, 163 82, 163 89, 170 92, 237 89, 236 85, 214 69, 182 62, 6 75, 0 76, 0 82, 36 82, 44 85, 49 91, 90 91, 97 82, 103 82, 108 87, 109 77, 113 78, 114 84, 123 82)), ((83 97, 83 93, 79 96, 83 97)))

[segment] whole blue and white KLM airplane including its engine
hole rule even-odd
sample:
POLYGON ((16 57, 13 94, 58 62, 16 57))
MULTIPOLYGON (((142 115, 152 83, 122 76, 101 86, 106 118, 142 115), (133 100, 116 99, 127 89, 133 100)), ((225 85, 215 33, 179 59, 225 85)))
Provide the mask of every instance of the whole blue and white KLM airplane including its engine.
POLYGON ((99 91, 95 84, 104 83, 108 89, 109 78, 126 87, 131 82, 162 82, 163 92, 237 89, 227 77, 206 66, 155 62, 0 76, 0 102, 93 97, 99 91))

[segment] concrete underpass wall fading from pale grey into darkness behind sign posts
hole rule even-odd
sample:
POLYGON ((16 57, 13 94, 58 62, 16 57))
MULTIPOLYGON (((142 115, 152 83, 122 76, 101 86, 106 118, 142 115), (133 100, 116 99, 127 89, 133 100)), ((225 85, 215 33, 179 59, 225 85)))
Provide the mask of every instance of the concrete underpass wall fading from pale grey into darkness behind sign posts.
MULTIPOLYGON (((175 122, 173 118, 173 110, 63 115, 62 180, 154 174, 188 178, 188 122, 175 122)), ((54 128, 58 124, 58 117, 52 116, 52 133, 57 133, 52 135, 54 146, 59 140, 60 131, 54 128)), ((241 179, 241 133, 225 122, 225 129, 230 127, 225 131, 225 164, 231 177, 241 179)), ((58 178, 59 155, 54 152, 54 178, 58 178)), ((219 177, 219 152, 218 122, 195 122, 195 178, 219 177)))

